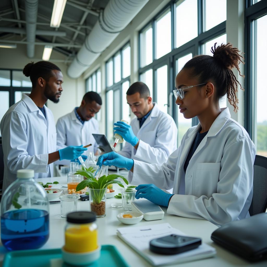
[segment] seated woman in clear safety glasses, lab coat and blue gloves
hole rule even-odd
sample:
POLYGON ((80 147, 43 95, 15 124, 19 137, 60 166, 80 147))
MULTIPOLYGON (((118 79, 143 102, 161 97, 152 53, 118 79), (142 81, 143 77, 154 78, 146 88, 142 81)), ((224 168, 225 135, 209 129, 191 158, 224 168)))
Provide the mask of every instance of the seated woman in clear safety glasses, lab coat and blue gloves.
POLYGON ((207 219, 217 225, 249 217, 253 194, 255 146, 246 130, 219 107, 225 94, 236 112, 241 87, 232 69, 243 57, 231 44, 211 48, 213 56, 189 60, 175 78, 176 104, 197 126, 183 136, 180 147, 164 164, 148 164, 111 152, 97 164, 126 167, 129 181, 140 184, 136 198, 167 206, 167 213, 207 219), (145 184, 144 184, 145 183, 145 184), (168 190, 173 187, 173 194, 168 190), (160 189, 161 188, 161 189, 160 189))

